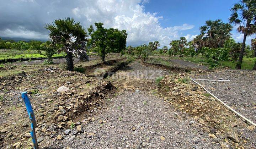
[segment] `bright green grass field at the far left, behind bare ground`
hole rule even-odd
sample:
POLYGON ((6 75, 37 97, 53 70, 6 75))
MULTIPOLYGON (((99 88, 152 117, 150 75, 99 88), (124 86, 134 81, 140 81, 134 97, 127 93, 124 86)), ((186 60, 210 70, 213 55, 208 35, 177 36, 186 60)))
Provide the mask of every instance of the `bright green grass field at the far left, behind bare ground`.
MULTIPOLYGON (((18 58, 39 58, 44 57, 43 54, 45 54, 45 51, 42 51, 42 55, 37 53, 37 50, 30 50, 30 53, 28 53, 29 50, 25 50, 22 54, 22 51, 15 50, 15 49, 0 49, 0 60, 4 59, 18 59, 18 58)), ((57 56, 65 56, 65 54, 54 54, 53 57, 57 56)))

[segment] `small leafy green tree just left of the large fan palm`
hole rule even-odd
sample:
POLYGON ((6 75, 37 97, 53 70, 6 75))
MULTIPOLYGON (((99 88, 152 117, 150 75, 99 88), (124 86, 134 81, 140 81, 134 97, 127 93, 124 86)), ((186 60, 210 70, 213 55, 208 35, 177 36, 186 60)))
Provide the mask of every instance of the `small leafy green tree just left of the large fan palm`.
POLYGON ((46 52, 44 56, 47 57, 47 64, 52 64, 52 56, 57 53, 57 47, 51 44, 50 41, 47 41, 45 43, 42 43, 39 46, 39 48, 40 50, 43 50, 46 52))

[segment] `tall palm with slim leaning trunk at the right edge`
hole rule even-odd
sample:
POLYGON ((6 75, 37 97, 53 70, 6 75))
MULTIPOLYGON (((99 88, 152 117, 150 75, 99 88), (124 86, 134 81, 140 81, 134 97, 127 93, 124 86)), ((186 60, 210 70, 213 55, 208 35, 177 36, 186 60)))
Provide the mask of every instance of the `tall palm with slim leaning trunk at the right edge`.
POLYGON ((229 17, 229 22, 233 23, 238 27, 238 32, 244 33, 244 39, 242 42, 242 48, 239 54, 238 63, 236 64, 236 69, 241 69, 242 59, 245 51, 245 41, 246 37, 255 33, 255 23, 256 23, 256 2, 255 0, 242 0, 241 4, 234 4, 233 8, 230 9, 232 14, 229 17), (244 26, 245 25, 245 26, 244 26))

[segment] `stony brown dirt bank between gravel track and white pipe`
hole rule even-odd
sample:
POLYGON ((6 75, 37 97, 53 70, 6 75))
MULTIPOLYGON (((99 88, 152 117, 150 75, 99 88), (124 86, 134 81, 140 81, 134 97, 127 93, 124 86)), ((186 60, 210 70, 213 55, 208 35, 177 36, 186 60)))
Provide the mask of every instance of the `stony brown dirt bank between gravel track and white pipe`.
POLYGON ((172 77, 165 76, 159 83, 159 93, 165 95, 165 99, 171 104, 193 115, 194 121, 199 122, 209 137, 217 138, 235 148, 242 148, 247 142, 240 141, 238 143, 237 140, 227 139, 229 131, 235 132, 235 136, 239 136, 239 140, 245 139, 246 137, 240 131, 241 128, 246 128, 248 125, 218 103, 201 87, 194 84, 190 78, 182 74, 172 77))

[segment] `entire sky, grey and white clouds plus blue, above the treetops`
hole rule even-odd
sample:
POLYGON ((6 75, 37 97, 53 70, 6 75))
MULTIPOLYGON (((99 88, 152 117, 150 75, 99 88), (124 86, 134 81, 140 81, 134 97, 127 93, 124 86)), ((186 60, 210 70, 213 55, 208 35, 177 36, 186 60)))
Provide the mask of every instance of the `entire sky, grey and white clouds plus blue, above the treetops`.
MULTIPOLYGON (((239 0, 0 0, 0 37, 48 39, 44 28, 54 19, 73 17, 88 28, 94 22, 125 29, 127 46, 159 41, 193 40, 206 20, 228 23, 229 9, 239 0)), ((232 37, 243 35, 233 28, 232 37)), ((247 38, 247 44, 254 37, 247 38)))

